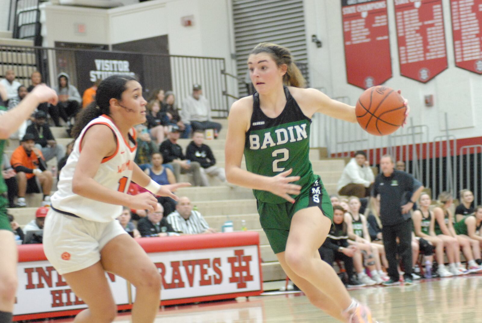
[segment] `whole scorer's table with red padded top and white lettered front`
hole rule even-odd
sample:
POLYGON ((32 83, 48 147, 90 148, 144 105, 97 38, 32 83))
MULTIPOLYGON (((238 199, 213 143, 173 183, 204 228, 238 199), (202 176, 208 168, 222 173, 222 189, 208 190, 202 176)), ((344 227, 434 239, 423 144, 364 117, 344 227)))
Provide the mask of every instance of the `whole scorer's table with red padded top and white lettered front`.
MULTIPOLYGON (((161 305, 262 293, 257 232, 141 238, 136 241, 159 269, 161 305)), ((14 321, 75 315, 87 307, 46 260, 42 245, 20 245, 18 251, 19 284, 13 309, 14 321)), ((106 273, 106 277, 118 309, 131 309, 135 287, 113 274, 106 273)))

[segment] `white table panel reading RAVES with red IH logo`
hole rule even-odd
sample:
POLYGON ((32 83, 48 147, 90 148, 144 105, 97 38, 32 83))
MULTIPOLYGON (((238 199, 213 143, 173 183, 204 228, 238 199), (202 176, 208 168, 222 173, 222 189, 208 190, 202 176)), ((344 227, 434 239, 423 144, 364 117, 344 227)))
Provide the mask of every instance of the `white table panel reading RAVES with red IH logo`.
MULTIPOLYGON (((257 246, 148 253, 162 278, 161 299, 259 291, 257 246)), ((133 299, 135 299, 135 288, 133 299)))

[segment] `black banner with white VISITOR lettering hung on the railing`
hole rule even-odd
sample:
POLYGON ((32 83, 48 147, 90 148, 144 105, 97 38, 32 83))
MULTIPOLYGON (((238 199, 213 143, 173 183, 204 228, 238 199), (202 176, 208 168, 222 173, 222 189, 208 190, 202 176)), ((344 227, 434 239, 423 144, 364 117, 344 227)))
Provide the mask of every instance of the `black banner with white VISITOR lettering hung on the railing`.
POLYGON ((114 75, 129 75, 142 84, 143 57, 139 54, 117 52, 78 51, 75 53, 77 63, 77 84, 80 93, 91 87, 95 81, 102 81, 114 75))

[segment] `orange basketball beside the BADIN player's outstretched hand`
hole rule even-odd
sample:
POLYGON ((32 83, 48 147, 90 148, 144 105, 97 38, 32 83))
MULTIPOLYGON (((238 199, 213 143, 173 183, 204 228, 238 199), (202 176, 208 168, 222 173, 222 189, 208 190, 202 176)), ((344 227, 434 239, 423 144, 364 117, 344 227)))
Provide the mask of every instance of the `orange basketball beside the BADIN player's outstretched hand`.
POLYGON ((394 89, 382 85, 365 90, 355 107, 360 126, 375 136, 395 132, 405 121, 406 110, 402 96, 394 89))

